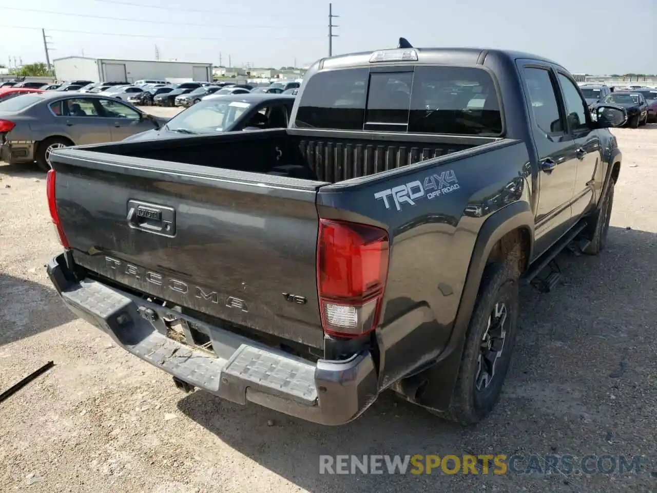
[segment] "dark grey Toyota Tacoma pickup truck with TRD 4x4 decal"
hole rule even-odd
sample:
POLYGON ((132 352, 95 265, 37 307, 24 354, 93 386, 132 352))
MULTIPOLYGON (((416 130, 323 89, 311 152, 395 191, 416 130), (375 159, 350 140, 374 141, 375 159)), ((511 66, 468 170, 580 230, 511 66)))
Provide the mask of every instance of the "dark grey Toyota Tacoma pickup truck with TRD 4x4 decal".
POLYGON ((475 423, 519 285, 604 248, 626 120, 526 53, 321 59, 287 128, 53 152, 47 272, 183 390, 339 425, 390 389, 475 423))

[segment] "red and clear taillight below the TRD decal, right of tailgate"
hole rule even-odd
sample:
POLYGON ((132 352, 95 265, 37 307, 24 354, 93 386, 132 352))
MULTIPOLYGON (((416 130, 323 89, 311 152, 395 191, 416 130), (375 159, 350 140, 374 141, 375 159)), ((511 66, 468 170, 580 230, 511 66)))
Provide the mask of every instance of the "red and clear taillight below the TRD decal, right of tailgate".
POLYGON ((317 291, 325 333, 357 337, 376 329, 388 277, 388 233, 319 220, 317 291))

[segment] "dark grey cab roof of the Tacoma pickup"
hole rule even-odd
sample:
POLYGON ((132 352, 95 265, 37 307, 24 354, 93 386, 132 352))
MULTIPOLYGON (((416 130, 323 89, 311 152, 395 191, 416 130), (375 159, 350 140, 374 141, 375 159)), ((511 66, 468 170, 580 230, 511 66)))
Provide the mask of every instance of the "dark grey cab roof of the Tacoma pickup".
MULTIPOLYGON (((370 58, 377 51, 388 51, 394 49, 412 49, 417 52, 417 61, 415 63, 449 63, 449 64, 482 64, 487 56, 492 55, 499 59, 516 60, 516 59, 531 59, 547 62, 550 64, 560 65, 553 60, 539 57, 532 53, 523 53, 521 51, 510 51, 501 49, 489 48, 388 48, 374 51, 361 51, 359 53, 347 53, 346 55, 338 55, 318 60, 315 63, 315 70, 322 70, 324 68, 348 68, 351 66, 369 66, 370 58)), ((312 68, 311 68, 312 70, 312 68)))

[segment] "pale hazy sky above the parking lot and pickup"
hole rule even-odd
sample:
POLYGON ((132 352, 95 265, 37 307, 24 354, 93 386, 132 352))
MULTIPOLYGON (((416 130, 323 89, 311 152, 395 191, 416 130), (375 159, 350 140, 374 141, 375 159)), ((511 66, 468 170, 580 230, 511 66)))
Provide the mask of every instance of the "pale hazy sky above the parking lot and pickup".
MULTIPOLYGON (((573 73, 657 74, 657 0, 336 0, 333 12, 334 55, 403 36, 526 51, 573 73)), ((41 28, 51 60, 154 60, 157 47, 160 60, 280 68, 328 55, 325 1, 0 0, 0 64, 45 61, 41 28)))

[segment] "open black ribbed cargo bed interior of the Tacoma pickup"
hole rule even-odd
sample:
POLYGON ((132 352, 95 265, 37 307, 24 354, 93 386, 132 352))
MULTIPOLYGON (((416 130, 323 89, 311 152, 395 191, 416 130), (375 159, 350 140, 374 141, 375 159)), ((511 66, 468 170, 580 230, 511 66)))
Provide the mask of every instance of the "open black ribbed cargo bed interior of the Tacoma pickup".
MULTIPOLYGON (((453 154, 499 139, 275 129, 79 147, 117 154, 260 174, 337 183, 453 154)), ((99 156, 100 158, 101 156, 99 156)), ((136 163, 135 160, 133 162, 136 163)))

